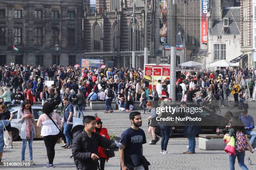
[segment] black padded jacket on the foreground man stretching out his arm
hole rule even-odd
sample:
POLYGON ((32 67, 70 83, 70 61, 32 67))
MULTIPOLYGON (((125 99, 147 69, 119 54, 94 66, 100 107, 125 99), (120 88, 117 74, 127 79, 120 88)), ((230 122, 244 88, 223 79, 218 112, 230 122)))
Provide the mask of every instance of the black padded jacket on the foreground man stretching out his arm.
POLYGON ((83 130, 76 137, 72 143, 72 154, 74 156, 74 163, 77 169, 81 170, 97 170, 98 161, 92 160, 91 155, 98 153, 98 147, 103 148, 117 148, 113 141, 110 141, 101 135, 93 132, 91 138, 83 130))

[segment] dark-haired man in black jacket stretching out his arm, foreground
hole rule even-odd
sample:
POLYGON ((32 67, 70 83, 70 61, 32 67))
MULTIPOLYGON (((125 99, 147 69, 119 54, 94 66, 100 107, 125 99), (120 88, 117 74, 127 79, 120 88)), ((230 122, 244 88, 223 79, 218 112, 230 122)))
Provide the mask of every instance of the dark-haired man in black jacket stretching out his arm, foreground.
POLYGON ((98 147, 117 148, 117 145, 115 142, 94 132, 96 124, 95 117, 85 116, 83 123, 84 130, 74 138, 72 143, 74 163, 78 170, 97 170, 99 159, 98 147))

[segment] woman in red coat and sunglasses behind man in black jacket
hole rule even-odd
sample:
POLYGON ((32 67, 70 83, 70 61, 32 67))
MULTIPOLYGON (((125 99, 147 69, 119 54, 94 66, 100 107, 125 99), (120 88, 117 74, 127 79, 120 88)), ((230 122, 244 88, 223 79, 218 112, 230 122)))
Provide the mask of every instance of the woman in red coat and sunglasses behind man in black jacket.
MULTIPOLYGON (((107 138, 108 140, 110 140, 110 137, 108 136, 107 128, 102 128, 102 121, 100 120, 100 117, 96 117, 96 128, 95 128, 94 132, 99 133, 104 138, 107 138)), ((100 170, 104 170, 105 162, 106 162, 106 160, 108 162, 109 158, 107 158, 104 148, 99 147, 98 152, 99 152, 99 157, 100 157, 100 170)))

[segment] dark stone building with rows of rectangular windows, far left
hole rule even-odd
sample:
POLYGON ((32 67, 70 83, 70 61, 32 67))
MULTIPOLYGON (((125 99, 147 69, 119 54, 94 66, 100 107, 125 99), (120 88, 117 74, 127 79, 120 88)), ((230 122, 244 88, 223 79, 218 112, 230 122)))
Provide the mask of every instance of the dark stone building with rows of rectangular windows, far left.
POLYGON ((0 65, 80 63, 83 16, 83 0, 1 0, 0 65))

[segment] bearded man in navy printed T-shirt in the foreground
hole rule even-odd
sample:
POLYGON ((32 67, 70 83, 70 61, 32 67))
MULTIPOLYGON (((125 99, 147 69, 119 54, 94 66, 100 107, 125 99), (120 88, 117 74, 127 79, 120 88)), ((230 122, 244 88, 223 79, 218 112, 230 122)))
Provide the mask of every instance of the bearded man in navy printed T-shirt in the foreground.
POLYGON ((120 143, 123 145, 119 149, 121 170, 148 170, 150 163, 143 156, 142 145, 146 142, 144 131, 139 128, 142 125, 141 113, 130 113, 131 128, 128 128, 121 135, 120 143))

